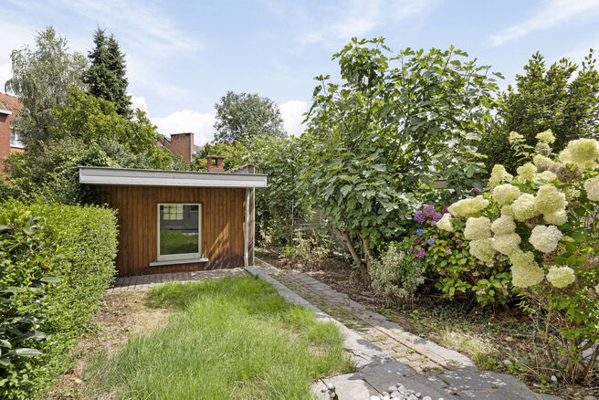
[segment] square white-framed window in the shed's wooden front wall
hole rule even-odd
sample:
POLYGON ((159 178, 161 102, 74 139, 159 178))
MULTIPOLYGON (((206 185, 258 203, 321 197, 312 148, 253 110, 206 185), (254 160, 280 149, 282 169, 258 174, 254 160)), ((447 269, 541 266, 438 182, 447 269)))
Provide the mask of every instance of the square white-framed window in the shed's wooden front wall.
POLYGON ((200 258, 202 205, 158 205, 158 259, 200 258))

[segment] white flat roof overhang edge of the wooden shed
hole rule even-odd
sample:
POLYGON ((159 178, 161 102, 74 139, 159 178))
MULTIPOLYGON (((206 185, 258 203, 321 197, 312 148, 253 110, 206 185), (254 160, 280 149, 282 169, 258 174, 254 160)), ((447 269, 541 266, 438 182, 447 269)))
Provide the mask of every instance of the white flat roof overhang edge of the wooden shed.
POLYGON ((79 183, 136 186, 266 187, 267 175, 80 166, 79 183))

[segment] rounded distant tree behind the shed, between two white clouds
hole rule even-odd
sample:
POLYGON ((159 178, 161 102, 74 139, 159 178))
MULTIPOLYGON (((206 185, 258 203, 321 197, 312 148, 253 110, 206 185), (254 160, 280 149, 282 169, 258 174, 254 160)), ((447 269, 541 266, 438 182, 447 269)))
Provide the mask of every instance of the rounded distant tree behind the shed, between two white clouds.
POLYGON ((287 136, 277 104, 267 97, 227 91, 215 110, 214 142, 238 142, 244 135, 287 136))

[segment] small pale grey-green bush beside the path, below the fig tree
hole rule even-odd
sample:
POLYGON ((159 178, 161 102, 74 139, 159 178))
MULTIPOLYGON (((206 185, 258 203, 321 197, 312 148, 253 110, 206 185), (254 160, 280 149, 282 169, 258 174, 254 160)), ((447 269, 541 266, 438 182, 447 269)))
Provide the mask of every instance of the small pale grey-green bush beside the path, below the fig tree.
POLYGON ((425 266, 414 255, 391 243, 383 257, 373 262, 371 284, 387 301, 412 299, 418 286, 425 282, 424 271, 425 266))

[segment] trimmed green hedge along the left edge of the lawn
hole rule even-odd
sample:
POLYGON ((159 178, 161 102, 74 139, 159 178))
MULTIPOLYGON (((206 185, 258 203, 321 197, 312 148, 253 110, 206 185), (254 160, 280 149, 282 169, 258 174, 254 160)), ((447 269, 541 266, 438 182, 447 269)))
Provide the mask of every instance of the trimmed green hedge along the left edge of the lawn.
POLYGON ((117 223, 98 206, 0 203, 0 399, 43 394, 115 276, 117 223))

